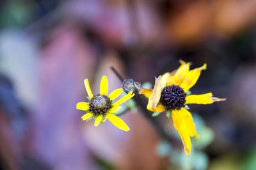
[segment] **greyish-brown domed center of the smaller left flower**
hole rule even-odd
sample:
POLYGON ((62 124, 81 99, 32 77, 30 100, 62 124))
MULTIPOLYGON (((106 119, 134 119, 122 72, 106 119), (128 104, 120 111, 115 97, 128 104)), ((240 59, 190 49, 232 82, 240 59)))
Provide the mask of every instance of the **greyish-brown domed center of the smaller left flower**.
POLYGON ((112 101, 106 95, 97 94, 89 102, 89 111, 93 115, 105 115, 112 108, 112 101))

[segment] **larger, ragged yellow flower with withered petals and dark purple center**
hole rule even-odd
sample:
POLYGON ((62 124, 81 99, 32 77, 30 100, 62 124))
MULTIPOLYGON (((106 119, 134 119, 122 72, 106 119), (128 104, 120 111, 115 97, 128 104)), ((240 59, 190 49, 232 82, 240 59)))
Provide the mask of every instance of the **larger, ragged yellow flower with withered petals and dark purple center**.
POLYGON ((165 73, 156 78, 154 89, 142 89, 140 94, 148 98, 147 109, 154 112, 171 111, 173 126, 179 132, 187 155, 191 152, 191 139, 196 132, 195 123, 191 113, 186 109, 186 104, 211 104, 216 101, 225 101, 213 97, 212 93, 188 95, 186 92, 195 85, 202 70, 202 67, 189 71, 190 63, 180 60, 180 67, 172 73, 165 73))

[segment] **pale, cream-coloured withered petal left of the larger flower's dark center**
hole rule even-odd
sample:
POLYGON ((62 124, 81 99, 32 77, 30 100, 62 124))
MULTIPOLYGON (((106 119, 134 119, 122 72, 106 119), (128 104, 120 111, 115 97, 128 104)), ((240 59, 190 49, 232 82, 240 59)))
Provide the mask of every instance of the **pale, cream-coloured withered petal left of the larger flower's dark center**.
POLYGON ((147 104, 147 109, 153 111, 156 107, 157 104, 159 103, 160 97, 161 97, 161 92, 163 90, 163 82, 161 81, 162 76, 158 76, 155 80, 155 85, 154 89, 152 90, 152 93, 149 96, 148 99, 148 104, 147 104))

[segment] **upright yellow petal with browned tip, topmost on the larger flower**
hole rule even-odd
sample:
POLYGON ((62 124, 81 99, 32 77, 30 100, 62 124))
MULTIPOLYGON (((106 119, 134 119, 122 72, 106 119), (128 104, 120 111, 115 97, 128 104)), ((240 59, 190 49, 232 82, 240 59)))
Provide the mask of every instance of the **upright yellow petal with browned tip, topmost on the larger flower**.
POLYGON ((177 69, 173 77, 174 85, 180 85, 180 83, 182 83, 182 81, 186 77, 186 74, 188 74, 188 71, 189 71, 189 65, 190 65, 189 62, 187 63, 180 60, 180 64, 181 64, 180 67, 177 69))

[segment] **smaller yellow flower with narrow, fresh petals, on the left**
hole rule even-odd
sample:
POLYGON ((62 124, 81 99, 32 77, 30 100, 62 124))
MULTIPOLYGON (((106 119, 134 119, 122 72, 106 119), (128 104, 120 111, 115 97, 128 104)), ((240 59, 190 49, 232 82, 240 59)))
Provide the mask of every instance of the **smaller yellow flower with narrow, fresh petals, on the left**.
POLYGON ((114 115, 114 113, 120 110, 120 104, 134 96, 132 91, 120 98, 118 101, 113 102, 116 97, 122 94, 123 89, 116 89, 108 96, 108 78, 106 76, 102 76, 100 81, 100 94, 93 96, 89 80, 87 78, 84 80, 84 85, 90 99, 88 103, 79 102, 76 104, 76 108, 78 110, 87 111, 87 113, 83 115, 82 119, 88 120, 88 118, 95 118, 94 126, 98 126, 100 122, 105 122, 108 119, 109 122, 119 129, 125 132, 129 131, 130 128, 128 125, 125 124, 121 118, 114 115))

